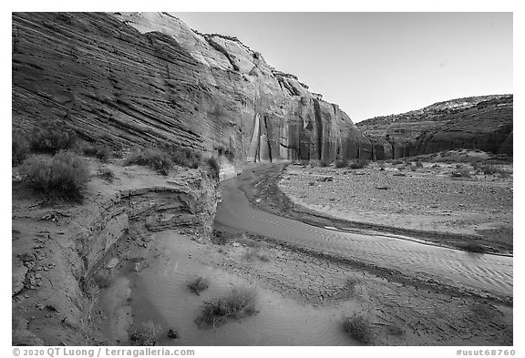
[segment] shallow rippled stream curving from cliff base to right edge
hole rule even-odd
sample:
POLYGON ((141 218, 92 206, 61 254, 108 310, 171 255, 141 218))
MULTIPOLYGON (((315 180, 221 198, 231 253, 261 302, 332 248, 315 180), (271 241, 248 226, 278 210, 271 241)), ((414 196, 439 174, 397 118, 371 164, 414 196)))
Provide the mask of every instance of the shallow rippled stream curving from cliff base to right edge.
POLYGON ((512 294, 512 258, 473 254, 381 235, 360 235, 318 228, 253 208, 237 179, 221 183, 222 202, 215 220, 324 252, 345 255, 408 274, 491 292, 512 294))

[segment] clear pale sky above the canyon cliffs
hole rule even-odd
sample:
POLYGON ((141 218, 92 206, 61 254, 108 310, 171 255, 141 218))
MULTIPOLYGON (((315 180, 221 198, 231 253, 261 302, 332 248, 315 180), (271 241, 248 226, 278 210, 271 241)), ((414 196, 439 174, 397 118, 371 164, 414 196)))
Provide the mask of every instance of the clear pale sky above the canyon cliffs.
POLYGON ((511 13, 173 13, 237 36, 355 122, 512 90, 511 13))

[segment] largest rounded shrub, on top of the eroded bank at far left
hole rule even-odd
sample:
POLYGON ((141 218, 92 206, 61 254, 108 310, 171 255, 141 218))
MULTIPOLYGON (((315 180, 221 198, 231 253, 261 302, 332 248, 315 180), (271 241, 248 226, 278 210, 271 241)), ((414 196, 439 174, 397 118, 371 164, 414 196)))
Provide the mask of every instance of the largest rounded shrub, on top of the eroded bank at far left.
POLYGON ((24 181, 48 199, 80 201, 89 179, 88 164, 74 153, 58 152, 55 157, 26 159, 20 168, 24 181))

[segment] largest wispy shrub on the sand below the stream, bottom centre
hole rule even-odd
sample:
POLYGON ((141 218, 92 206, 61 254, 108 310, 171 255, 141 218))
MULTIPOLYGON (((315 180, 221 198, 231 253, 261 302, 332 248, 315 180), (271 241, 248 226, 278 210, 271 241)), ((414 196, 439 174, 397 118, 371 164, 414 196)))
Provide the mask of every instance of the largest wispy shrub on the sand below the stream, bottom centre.
POLYGON ((218 327, 229 320, 251 316, 255 311, 255 296, 253 289, 236 288, 228 295, 206 302, 204 310, 195 321, 199 328, 218 327))

